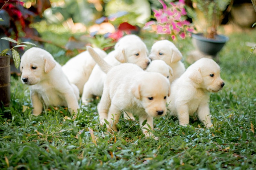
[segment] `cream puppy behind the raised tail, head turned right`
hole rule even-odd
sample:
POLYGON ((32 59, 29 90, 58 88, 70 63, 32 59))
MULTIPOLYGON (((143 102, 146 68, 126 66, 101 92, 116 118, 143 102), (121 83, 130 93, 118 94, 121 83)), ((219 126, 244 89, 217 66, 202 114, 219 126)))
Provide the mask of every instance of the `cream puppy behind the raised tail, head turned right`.
MULTIPOLYGON (((110 52, 104 60, 114 66, 126 62, 134 63, 142 69, 147 68, 150 63, 147 47, 136 35, 126 35, 121 38, 115 45, 115 50, 110 52)), ((83 88, 81 99, 84 104, 89 102, 93 96, 102 95, 105 77, 106 74, 101 71, 98 65, 95 65, 83 88)))

